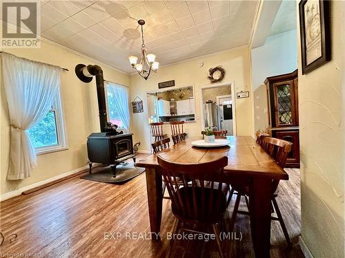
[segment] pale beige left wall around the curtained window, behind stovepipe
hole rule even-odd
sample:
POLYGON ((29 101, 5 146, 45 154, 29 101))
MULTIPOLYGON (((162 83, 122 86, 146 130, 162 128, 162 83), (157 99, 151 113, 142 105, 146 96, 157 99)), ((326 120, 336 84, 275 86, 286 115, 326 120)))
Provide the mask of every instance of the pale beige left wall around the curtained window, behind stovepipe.
POLYGON ((99 131, 97 92, 95 79, 91 83, 82 83, 75 76, 75 65, 78 63, 98 64, 103 68, 104 77, 121 85, 129 85, 128 75, 97 63, 84 56, 79 56, 57 45, 42 42, 40 49, 7 49, 6 52, 32 60, 66 67, 69 72, 62 72, 61 97, 63 113, 66 120, 68 150, 47 153, 38 156, 38 166, 32 171, 30 178, 18 181, 7 181, 10 124, 8 107, 1 85, 1 194, 14 191, 24 186, 55 177, 61 173, 78 169, 86 165, 86 140, 92 131, 99 131))

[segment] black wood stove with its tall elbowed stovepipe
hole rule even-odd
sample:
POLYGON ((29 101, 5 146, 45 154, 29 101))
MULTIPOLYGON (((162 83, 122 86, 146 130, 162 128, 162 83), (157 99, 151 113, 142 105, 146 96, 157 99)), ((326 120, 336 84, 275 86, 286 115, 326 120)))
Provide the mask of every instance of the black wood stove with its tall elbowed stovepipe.
POLYGON ((90 173, 92 163, 109 164, 112 169, 112 176, 116 177, 116 166, 128 158, 135 162, 133 152, 133 133, 117 131, 117 126, 107 122, 106 96, 104 94, 103 71, 98 65, 82 65, 75 67, 75 74, 84 83, 90 83, 92 77, 96 77, 97 100, 99 107, 100 133, 91 133, 88 136, 88 160, 90 173))

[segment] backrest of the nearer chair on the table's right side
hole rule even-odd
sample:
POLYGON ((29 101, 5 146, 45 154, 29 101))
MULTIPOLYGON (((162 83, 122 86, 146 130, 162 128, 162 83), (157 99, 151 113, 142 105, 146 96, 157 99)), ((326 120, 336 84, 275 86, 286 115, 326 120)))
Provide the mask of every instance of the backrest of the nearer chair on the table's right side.
POLYGON ((281 166, 284 168, 288 153, 291 151, 293 144, 287 140, 266 137, 264 143, 264 150, 281 166))

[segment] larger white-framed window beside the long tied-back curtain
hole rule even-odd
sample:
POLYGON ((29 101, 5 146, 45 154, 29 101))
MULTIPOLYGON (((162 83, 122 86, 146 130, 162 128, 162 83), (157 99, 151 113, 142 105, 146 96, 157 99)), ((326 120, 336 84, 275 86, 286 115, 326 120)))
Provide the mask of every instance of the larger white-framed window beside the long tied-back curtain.
POLYGON ((46 116, 28 134, 37 154, 66 149, 60 93, 46 116))

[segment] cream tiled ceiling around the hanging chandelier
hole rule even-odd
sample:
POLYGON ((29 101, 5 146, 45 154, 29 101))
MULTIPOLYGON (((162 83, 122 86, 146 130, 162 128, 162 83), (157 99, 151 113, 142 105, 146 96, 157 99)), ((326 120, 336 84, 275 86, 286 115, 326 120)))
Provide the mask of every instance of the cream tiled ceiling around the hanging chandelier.
POLYGON ((248 44, 257 1, 41 1, 41 36, 131 73, 144 19, 160 65, 248 44))

